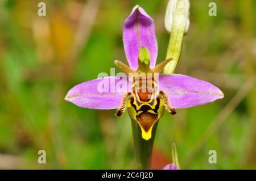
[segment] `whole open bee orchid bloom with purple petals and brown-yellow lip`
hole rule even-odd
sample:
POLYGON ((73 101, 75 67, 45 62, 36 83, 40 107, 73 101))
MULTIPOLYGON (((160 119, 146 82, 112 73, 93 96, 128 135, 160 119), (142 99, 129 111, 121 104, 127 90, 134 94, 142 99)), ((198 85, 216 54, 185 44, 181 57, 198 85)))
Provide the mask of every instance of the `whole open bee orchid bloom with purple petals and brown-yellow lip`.
POLYGON ((155 66, 158 45, 154 20, 139 6, 134 7, 123 25, 123 45, 129 66, 120 61, 115 64, 127 75, 133 74, 132 78, 104 77, 83 82, 69 90, 65 100, 84 108, 118 108, 117 116, 127 108, 130 117, 140 125, 142 137, 149 140, 152 127, 163 115, 164 108, 175 114, 176 108, 199 106, 224 97, 216 86, 187 75, 156 76, 171 58, 155 66), (152 77, 138 78, 135 73, 152 73, 152 77), (136 86, 144 79, 146 91, 136 86), (108 83, 105 91, 99 90, 102 82, 108 83), (120 84, 127 85, 126 91, 117 86, 120 84))

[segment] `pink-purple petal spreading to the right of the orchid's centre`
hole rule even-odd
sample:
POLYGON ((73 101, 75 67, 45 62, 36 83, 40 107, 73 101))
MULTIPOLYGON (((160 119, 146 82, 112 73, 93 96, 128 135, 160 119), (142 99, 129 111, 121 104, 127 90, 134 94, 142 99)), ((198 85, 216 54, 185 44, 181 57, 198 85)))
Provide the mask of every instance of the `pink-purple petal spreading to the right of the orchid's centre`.
POLYGON ((209 82, 181 74, 160 75, 159 90, 167 92, 174 108, 199 106, 224 97, 221 90, 209 82))

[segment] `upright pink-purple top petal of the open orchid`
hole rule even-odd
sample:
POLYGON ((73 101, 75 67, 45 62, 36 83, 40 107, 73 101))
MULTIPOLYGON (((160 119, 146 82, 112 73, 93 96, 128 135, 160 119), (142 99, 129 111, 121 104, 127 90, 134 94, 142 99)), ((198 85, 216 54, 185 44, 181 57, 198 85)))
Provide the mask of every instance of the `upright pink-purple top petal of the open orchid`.
POLYGON ((140 47, 150 51, 150 68, 155 67, 158 45, 155 37, 154 20, 139 6, 135 6, 123 24, 123 45, 130 68, 138 69, 140 47))

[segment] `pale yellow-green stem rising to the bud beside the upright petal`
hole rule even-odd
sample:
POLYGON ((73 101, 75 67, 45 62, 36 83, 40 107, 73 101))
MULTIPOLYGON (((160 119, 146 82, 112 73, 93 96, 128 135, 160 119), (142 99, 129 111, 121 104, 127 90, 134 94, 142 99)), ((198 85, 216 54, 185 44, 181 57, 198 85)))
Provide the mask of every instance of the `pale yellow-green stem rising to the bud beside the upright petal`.
POLYGON ((172 17, 171 36, 167 49, 167 58, 173 58, 165 67, 164 74, 172 74, 176 68, 177 62, 180 59, 182 40, 185 31, 185 2, 177 0, 176 10, 172 17))

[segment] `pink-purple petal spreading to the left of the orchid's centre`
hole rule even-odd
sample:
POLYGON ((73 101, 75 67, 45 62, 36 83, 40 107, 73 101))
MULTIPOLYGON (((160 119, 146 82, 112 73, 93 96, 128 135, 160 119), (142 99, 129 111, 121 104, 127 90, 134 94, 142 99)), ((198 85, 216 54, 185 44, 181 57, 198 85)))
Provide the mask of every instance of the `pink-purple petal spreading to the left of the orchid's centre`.
POLYGON ((65 100, 84 108, 116 109, 121 104, 123 95, 131 90, 130 87, 130 82, 125 78, 98 78, 73 87, 65 100))

